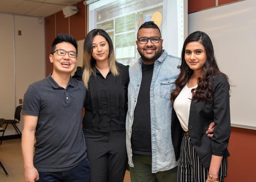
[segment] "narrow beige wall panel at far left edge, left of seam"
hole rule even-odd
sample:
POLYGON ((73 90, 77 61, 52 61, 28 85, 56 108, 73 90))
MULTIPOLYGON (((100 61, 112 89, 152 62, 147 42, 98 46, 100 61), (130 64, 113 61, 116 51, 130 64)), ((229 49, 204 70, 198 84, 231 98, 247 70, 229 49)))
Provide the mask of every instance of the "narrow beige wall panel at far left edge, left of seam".
POLYGON ((5 119, 13 119, 15 110, 13 32, 14 16, 0 14, 0 118, 5 119))

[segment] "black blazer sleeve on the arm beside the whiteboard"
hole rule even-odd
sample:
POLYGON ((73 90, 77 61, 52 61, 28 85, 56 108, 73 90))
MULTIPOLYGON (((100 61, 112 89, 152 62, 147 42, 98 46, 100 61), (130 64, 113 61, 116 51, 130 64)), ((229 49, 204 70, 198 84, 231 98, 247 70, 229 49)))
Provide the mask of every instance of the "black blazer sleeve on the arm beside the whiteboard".
MULTIPOLYGON (((229 83, 226 76, 220 75, 215 78, 216 86, 213 85, 213 112, 215 127, 212 137, 212 154, 224 156, 230 137, 230 105, 229 83)), ((214 84, 214 83, 213 83, 214 84)))

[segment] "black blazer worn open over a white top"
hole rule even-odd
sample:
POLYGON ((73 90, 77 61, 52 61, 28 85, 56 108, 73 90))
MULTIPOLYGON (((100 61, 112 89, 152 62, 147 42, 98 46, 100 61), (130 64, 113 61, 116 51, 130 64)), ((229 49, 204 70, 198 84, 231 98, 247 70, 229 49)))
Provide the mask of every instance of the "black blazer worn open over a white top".
MULTIPOLYGON (((206 92, 204 93, 206 95, 206 92)), ((171 134, 175 158, 180 157, 180 146, 183 129, 178 117, 172 108, 171 134)), ((210 167, 212 155, 227 158, 227 146, 230 137, 230 106, 229 84, 224 75, 215 75, 212 79, 212 100, 191 101, 188 129, 192 144, 204 168, 210 167), (207 137, 209 124, 214 121, 213 137, 207 137)))

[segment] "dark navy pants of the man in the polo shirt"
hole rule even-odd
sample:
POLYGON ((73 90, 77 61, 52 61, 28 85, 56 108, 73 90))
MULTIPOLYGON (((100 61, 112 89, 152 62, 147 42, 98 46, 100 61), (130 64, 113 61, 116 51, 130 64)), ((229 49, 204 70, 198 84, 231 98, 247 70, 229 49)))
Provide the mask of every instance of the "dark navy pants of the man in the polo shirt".
POLYGON ((89 182, 90 164, 87 157, 76 167, 67 171, 38 172, 37 182, 89 182))

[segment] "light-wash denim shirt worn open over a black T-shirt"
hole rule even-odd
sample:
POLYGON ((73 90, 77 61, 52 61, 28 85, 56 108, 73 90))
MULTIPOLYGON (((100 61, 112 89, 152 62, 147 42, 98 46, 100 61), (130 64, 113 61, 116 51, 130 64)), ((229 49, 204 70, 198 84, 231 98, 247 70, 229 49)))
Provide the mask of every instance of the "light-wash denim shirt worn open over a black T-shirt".
MULTIPOLYGON (((177 68, 180 59, 170 56, 165 50, 155 60, 152 81, 150 85, 150 115, 152 144, 152 173, 166 171, 178 165, 175 160, 171 138, 171 91, 175 88, 175 80, 180 73, 177 68)), ((139 95, 142 80, 142 59, 129 69, 130 83, 128 86, 128 112, 126 116, 126 148, 128 163, 133 167, 131 132, 134 109, 139 95)))

